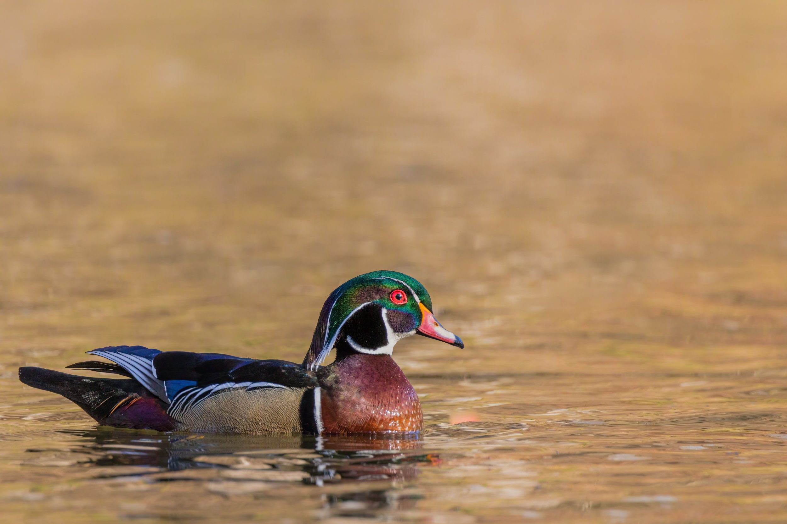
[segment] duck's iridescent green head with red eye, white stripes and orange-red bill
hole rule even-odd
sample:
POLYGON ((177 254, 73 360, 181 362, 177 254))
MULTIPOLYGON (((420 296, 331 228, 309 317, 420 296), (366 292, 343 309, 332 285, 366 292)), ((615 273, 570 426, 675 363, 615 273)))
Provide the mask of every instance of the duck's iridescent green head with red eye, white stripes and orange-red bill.
POLYGON ((434 320, 432 299, 418 280, 396 271, 374 271, 348 280, 328 296, 303 367, 316 371, 338 353, 385 354, 410 335, 460 348, 462 339, 434 320))

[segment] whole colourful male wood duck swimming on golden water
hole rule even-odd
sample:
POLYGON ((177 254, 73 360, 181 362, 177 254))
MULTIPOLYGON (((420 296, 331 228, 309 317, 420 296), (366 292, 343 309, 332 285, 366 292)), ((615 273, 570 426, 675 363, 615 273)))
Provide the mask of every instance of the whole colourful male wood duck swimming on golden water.
POLYGON ((111 362, 67 366, 125 379, 19 369, 28 386, 73 401, 99 424, 157 431, 284 434, 412 432, 421 405, 391 358, 393 346, 424 335, 464 347, 432 314, 414 278, 375 271, 328 296, 301 365, 215 353, 109 346, 88 351, 111 362), (322 361, 336 349, 331 365, 322 361))

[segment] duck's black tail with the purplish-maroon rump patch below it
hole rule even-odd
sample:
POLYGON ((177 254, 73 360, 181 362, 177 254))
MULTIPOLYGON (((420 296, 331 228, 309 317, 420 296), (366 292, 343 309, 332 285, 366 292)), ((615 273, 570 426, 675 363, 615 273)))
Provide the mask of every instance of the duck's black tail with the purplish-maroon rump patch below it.
MULTIPOLYGON (((68 398, 100 424, 159 429, 156 427, 159 422, 170 421, 164 402, 135 379, 97 379, 33 367, 19 368, 19 379, 28 386, 68 398), (128 409, 135 403, 138 409, 128 409), (138 415, 146 420, 139 419, 138 415)), ((162 429, 170 428, 163 424, 162 429)))

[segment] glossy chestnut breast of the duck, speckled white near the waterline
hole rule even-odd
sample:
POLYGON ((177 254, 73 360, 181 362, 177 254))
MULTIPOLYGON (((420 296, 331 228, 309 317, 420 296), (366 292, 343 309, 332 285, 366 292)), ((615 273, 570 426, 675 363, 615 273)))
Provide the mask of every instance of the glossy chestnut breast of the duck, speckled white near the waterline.
POLYGON ((420 431, 421 403, 389 355, 352 354, 320 369, 323 433, 420 431))

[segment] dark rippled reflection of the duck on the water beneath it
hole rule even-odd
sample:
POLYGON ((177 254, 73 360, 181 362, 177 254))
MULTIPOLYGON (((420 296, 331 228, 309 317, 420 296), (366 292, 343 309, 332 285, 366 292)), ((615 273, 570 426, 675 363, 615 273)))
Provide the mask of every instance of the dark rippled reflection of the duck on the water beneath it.
MULTIPOLYGON (((67 431, 78 438, 75 453, 82 464, 108 467, 103 478, 128 476, 127 468, 140 467, 131 475, 197 469, 268 470, 270 478, 292 479, 323 486, 341 482, 408 481, 419 467, 434 465, 438 456, 423 452, 419 434, 364 434, 314 437, 307 435, 162 434, 99 427, 91 431, 67 431)), ((238 474, 238 478, 243 478, 238 474)))

